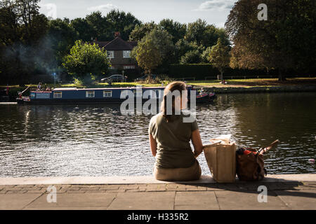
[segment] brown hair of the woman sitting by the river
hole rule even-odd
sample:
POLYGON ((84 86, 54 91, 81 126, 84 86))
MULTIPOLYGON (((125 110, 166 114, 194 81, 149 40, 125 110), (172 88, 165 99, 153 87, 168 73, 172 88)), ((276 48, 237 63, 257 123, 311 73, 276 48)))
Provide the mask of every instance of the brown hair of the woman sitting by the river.
MULTIPOLYGON (((161 111, 162 111, 162 116, 164 116, 164 118, 166 118, 166 122, 170 122, 171 121, 171 114, 167 114, 167 96, 169 94, 172 94, 173 91, 178 90, 180 92, 180 96, 182 97, 182 91, 183 90, 187 90, 187 85, 184 82, 172 82, 169 83, 166 88, 164 89, 164 99, 162 100, 162 107, 161 107, 161 111)), ((175 99, 176 97, 174 95, 172 95, 172 114, 175 113, 175 99)))

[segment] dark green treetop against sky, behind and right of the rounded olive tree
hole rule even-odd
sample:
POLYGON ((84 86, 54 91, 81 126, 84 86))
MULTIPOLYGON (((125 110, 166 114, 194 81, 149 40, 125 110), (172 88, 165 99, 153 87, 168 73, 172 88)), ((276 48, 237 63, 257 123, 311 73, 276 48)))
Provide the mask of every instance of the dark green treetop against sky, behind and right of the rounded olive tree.
POLYGON ((187 25, 180 22, 173 22, 170 19, 164 19, 159 22, 159 27, 166 30, 172 36, 173 44, 176 44, 181 38, 184 38, 187 25))

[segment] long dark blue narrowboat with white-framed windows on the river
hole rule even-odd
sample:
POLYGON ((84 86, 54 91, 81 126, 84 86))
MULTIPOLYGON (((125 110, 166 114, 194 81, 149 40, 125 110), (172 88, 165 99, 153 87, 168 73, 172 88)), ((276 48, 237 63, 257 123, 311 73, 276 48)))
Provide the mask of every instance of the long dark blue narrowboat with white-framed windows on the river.
MULTIPOLYGON (((136 102, 145 102, 148 99, 162 100, 164 96, 162 87, 108 87, 108 88, 77 88, 62 87, 50 91, 31 90, 28 97, 17 98, 18 104, 116 104, 124 102, 130 94, 133 94, 136 102), (146 92, 147 90, 151 90, 146 92), (145 99, 143 99, 145 98, 145 99)), ((192 86, 187 86, 188 98, 192 86)), ((209 93, 199 92, 197 103, 209 102, 209 93)))

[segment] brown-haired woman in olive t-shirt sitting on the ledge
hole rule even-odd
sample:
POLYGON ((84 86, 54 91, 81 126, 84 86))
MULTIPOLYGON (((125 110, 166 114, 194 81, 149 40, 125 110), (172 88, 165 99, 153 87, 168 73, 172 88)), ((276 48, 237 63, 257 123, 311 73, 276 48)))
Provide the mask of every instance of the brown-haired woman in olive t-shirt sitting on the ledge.
POLYGON ((187 91, 183 90, 187 90, 183 82, 167 85, 164 89, 162 112, 150 120, 150 148, 156 158, 154 177, 160 181, 193 181, 201 176, 201 167, 196 158, 202 153, 203 145, 197 120, 182 111, 187 104, 187 91), (179 94, 176 97, 169 96, 177 92, 179 94), (167 100, 167 97, 172 100, 167 100), (167 102, 172 102, 172 110, 168 108, 169 113, 167 102), (189 117, 193 118, 190 122, 185 120, 189 117), (194 153, 190 147, 191 140, 194 153))

